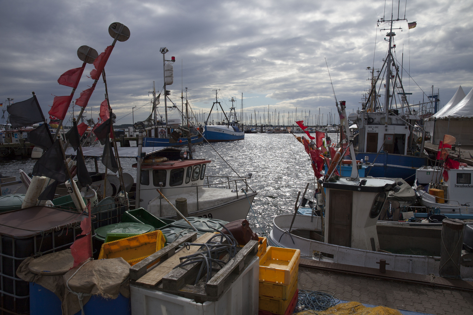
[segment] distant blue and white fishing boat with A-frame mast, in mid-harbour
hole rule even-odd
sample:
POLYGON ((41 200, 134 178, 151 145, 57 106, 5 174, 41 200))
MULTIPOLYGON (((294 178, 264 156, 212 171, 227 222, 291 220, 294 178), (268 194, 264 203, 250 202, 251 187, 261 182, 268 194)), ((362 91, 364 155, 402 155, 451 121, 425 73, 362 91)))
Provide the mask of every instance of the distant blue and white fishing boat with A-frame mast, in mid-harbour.
MULTIPOLYGON (((243 93, 241 94, 241 106, 243 108, 243 93)), ((245 131, 243 130, 243 124, 239 124, 239 120, 236 118, 236 111, 234 102, 235 99, 232 97, 231 100, 232 107, 230 107, 230 113, 227 117, 225 111, 222 108, 222 105, 217 99, 217 90, 215 90, 215 102, 212 104, 210 109, 209 116, 205 121, 204 137, 209 142, 221 142, 221 141, 235 141, 245 139, 245 131), (215 104, 219 104, 220 109, 222 110, 225 120, 218 122, 217 125, 209 125, 210 114, 212 113, 213 107, 215 104)), ((217 108, 217 107, 216 107, 217 108)))

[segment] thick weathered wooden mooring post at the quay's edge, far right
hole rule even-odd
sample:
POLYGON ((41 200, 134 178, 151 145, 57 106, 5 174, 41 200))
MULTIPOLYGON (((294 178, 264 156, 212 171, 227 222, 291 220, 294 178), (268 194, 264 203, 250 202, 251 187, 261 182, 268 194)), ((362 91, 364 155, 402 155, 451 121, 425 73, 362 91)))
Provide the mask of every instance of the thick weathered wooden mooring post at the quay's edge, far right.
POLYGON ((460 277, 464 230, 465 223, 461 220, 444 219, 442 221, 440 267, 438 268, 438 274, 442 277, 460 277))

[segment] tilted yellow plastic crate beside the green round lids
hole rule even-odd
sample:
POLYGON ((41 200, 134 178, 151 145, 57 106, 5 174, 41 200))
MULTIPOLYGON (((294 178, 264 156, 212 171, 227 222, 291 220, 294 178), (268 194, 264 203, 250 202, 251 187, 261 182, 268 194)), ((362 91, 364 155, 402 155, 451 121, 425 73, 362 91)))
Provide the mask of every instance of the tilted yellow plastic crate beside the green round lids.
POLYGON ((132 266, 156 253, 165 245, 166 238, 163 232, 155 230, 102 244, 98 259, 122 257, 132 266))

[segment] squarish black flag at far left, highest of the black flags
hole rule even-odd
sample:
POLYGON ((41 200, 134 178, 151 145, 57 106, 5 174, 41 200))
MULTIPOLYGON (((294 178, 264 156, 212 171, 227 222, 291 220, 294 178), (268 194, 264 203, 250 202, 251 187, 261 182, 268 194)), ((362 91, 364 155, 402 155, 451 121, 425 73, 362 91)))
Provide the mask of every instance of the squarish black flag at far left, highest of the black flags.
POLYGON ((11 104, 7 111, 10 114, 11 128, 31 126, 44 121, 43 112, 34 96, 26 101, 11 104))

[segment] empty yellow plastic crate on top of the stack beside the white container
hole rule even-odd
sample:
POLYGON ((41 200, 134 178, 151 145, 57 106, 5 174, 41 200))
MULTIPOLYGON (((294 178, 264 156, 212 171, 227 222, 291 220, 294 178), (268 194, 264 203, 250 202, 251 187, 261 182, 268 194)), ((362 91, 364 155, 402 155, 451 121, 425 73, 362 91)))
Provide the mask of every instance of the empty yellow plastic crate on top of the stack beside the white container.
POLYGON ((260 281, 290 284, 298 272, 300 250, 268 246, 260 257, 260 281))

